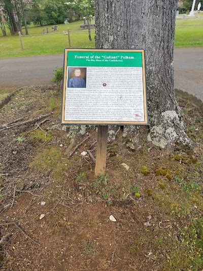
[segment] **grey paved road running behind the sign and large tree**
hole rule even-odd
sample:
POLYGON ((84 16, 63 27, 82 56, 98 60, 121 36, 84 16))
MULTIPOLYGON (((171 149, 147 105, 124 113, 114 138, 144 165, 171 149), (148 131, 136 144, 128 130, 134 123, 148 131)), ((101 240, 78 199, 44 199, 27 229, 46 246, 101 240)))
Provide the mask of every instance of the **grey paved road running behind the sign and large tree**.
MULTIPOLYGON (((51 84, 55 67, 63 66, 63 54, 0 59, 0 87, 51 84)), ((203 47, 176 48, 175 87, 203 101, 203 47)))

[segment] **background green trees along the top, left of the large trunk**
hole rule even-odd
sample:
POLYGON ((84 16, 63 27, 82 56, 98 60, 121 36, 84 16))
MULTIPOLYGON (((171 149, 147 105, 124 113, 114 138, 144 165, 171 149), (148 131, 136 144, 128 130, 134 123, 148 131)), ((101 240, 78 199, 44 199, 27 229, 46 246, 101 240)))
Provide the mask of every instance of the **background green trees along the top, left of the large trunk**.
MULTIPOLYGON (((42 26, 63 23, 65 20, 71 22, 84 16, 90 19, 90 15, 94 14, 93 0, 70 0, 69 3, 64 0, 0 0, 0 6, 12 35, 21 31, 22 25, 28 35, 27 21, 42 26)), ((3 35, 6 35, 2 22, 0 27, 3 35)))

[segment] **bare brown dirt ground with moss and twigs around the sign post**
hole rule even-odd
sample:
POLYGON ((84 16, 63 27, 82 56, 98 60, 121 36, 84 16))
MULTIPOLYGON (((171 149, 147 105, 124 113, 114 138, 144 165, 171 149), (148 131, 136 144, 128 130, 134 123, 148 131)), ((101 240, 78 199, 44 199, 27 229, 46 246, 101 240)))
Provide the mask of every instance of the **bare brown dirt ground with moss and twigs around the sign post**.
POLYGON ((148 142, 132 151, 120 131, 96 178, 91 156, 80 155, 95 157, 95 131, 69 159, 67 132, 52 129, 55 88, 16 94, 0 110, 1 270, 202 270, 203 116, 180 105, 194 153, 166 155, 148 142))

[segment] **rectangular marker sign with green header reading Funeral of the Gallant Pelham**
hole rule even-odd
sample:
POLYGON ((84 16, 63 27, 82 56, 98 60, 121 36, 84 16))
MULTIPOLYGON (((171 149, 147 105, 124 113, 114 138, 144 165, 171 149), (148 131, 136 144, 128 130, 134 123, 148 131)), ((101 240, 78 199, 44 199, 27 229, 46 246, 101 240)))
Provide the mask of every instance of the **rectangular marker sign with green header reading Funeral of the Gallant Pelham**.
POLYGON ((61 124, 148 125, 144 50, 65 49, 61 124))

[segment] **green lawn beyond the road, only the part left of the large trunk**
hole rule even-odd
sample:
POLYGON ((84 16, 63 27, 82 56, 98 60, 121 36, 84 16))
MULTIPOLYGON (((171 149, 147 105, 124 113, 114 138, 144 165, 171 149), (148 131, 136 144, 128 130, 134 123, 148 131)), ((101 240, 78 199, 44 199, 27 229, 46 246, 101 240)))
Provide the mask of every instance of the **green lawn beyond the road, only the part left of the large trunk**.
MULTIPOLYGON (((95 48, 95 30, 91 30, 92 41, 89 41, 88 32, 80 31, 80 24, 82 23, 83 21, 77 21, 69 24, 72 47, 95 48)), ((47 25, 46 28, 48 27, 51 30, 52 26, 47 25)), ((42 34, 43 29, 45 29, 45 26, 32 26, 28 27, 28 32, 29 35, 42 34)), ((4 48, 0 51, 0 58, 63 53, 64 48, 69 47, 69 40, 64 33, 59 33, 62 31, 66 32, 67 26, 58 24, 58 31, 55 34, 22 37, 24 50, 21 49, 18 35, 6 37, 0 35, 0 46, 4 48)))

